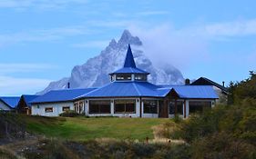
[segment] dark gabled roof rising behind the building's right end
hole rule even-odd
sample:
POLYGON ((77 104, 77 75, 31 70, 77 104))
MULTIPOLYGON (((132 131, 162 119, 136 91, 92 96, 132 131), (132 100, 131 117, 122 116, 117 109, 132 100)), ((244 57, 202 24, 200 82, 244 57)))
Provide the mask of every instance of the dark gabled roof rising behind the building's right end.
POLYGON ((190 85, 214 85, 214 86, 220 88, 220 90, 222 92, 224 92, 225 94, 229 93, 228 88, 224 87, 223 85, 217 84, 206 77, 200 77, 199 79, 197 79, 190 85))

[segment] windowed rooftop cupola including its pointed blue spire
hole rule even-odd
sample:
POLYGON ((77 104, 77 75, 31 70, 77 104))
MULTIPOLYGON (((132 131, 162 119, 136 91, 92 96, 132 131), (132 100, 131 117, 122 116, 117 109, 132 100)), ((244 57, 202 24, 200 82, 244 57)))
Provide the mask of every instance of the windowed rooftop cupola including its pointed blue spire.
POLYGON ((118 69, 114 73, 109 74, 111 76, 111 82, 115 81, 147 81, 148 72, 143 71, 136 67, 134 57, 130 45, 128 45, 128 51, 123 68, 118 69))

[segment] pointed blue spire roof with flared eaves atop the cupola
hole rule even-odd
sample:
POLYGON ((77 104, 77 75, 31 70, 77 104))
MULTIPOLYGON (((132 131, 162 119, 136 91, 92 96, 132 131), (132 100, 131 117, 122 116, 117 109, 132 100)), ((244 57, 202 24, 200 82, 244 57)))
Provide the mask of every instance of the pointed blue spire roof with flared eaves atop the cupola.
POLYGON ((130 49, 130 45, 128 45, 128 52, 125 59, 124 67, 121 69, 118 69, 117 71, 115 71, 114 73, 111 73, 110 75, 113 75, 113 74, 149 74, 149 73, 136 67, 134 62, 134 57, 130 49))

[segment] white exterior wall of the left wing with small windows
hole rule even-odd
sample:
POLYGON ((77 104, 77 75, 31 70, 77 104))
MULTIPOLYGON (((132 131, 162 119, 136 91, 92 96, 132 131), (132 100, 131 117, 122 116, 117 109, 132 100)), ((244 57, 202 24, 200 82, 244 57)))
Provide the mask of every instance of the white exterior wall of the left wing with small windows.
POLYGON ((40 116, 58 116, 63 113, 62 107, 70 106, 70 110, 74 110, 73 102, 62 102, 62 103, 50 103, 50 104, 32 104, 31 114, 40 116), (46 113, 46 107, 53 107, 53 112, 46 113))

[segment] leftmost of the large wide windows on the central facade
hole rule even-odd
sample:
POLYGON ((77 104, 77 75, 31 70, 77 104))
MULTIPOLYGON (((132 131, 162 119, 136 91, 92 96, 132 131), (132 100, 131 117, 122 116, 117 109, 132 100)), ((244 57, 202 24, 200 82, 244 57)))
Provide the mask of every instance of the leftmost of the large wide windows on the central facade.
POLYGON ((89 114, 110 114, 110 101, 89 101, 89 114))

